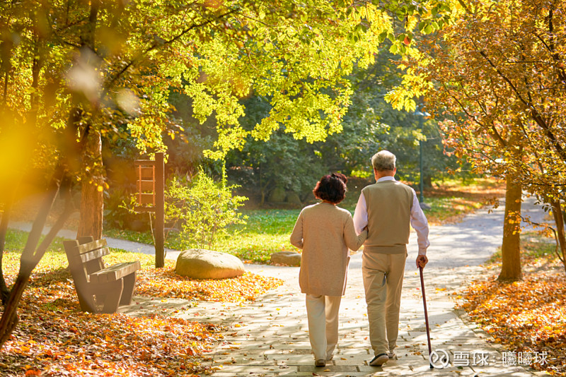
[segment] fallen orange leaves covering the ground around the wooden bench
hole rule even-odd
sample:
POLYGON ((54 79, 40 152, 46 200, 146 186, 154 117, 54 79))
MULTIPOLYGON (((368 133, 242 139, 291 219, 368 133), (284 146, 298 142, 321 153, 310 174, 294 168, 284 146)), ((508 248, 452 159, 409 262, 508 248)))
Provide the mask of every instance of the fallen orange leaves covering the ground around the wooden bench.
MULTIPOLYGON (((9 232, 8 248, 25 241, 9 232)), ((8 285, 16 277, 18 251, 4 255, 8 285)), ((188 280, 166 268, 152 267, 154 258, 113 251, 107 264, 139 259, 142 269, 137 295, 190 300, 253 300, 279 280, 245 274, 226 280, 188 280)), ((212 323, 169 316, 131 317, 89 314, 79 303, 60 240, 47 252, 30 279, 21 301, 20 322, 0 351, 1 376, 193 376, 211 373, 202 359, 222 335, 212 323)))

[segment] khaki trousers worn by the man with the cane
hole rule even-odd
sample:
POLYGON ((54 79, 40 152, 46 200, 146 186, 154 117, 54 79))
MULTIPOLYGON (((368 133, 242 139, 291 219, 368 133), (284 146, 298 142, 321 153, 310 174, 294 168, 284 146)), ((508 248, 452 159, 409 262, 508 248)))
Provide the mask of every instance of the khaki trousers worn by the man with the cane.
POLYGON ((376 356, 393 352, 397 347, 406 259, 406 251, 393 254, 364 251, 362 255, 369 341, 376 356))

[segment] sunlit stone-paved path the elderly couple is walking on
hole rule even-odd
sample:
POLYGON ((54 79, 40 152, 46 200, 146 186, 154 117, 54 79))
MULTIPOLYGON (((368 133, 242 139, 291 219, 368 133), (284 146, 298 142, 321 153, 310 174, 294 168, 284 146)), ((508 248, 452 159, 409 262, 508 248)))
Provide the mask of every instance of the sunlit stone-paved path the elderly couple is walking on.
MULTIPOLYGON (((224 341, 205 361, 216 368, 214 376, 541 376, 524 366, 502 361, 505 351, 490 343, 490 335, 466 321, 454 309, 451 294, 482 272, 479 266, 501 243, 502 208, 480 210, 454 225, 432 227, 429 264, 424 269, 432 349, 449 354, 449 365, 429 369, 427 336, 415 267, 416 241, 410 241, 400 313, 397 360, 383 367, 367 364, 369 352, 366 304, 362 285, 361 253, 352 256, 347 294, 340 306, 340 340, 335 356, 324 368, 313 366, 308 342, 304 294, 298 285, 299 268, 248 265, 253 273, 279 277, 284 285, 253 303, 189 303, 181 299, 136 297, 122 313, 168 313, 193 321, 209 321, 229 328, 224 341), (482 355, 487 361, 482 361, 482 355), (466 359, 467 358, 467 359, 466 359)), ((535 220, 541 210, 530 203, 524 213, 535 220)), ((120 241, 120 240, 117 240, 120 241)), ((112 245, 115 240, 108 240, 112 245)), ((115 243, 121 249, 151 253, 141 244, 115 243)), ((176 258, 170 251, 168 258, 176 258)), ((485 359, 484 359, 485 360, 485 359)))

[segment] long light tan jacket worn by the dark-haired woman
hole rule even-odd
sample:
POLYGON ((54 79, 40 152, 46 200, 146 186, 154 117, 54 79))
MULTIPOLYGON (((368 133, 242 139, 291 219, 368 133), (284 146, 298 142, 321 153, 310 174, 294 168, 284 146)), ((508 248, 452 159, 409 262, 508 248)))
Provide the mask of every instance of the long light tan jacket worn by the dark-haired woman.
POLYGON ((346 289, 350 252, 359 249, 359 236, 350 212, 328 203, 303 208, 291 233, 291 244, 303 249, 299 286, 306 294, 342 296, 346 289))

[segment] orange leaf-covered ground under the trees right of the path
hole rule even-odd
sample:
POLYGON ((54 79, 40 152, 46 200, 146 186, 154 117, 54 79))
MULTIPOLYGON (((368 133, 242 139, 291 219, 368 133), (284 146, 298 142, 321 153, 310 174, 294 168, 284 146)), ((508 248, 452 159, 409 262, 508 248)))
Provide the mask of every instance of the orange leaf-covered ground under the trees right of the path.
POLYGON ((500 258, 462 295, 461 307, 494 341, 510 352, 548 354, 547 363, 531 363, 553 376, 566 376, 566 274, 553 244, 538 237, 521 242, 524 280, 497 282, 500 258))

